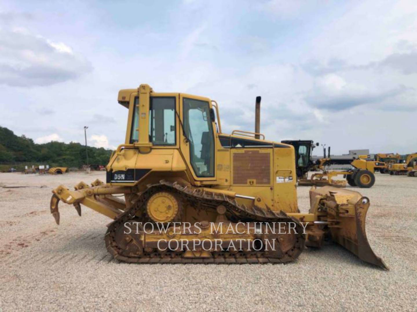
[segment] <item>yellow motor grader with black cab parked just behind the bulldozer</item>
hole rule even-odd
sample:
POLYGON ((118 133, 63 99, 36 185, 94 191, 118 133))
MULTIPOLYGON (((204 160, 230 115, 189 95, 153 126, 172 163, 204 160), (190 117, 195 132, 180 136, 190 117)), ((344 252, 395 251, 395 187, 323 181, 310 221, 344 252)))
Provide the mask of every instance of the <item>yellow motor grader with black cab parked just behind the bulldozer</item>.
POLYGON ((358 186, 359 188, 370 188, 375 183, 375 170, 385 168, 385 163, 381 161, 370 161, 364 158, 356 159, 334 159, 330 158, 330 147, 326 157, 326 150, 323 150, 323 158, 316 162, 311 161, 311 153, 318 143, 314 144, 311 140, 284 140, 281 143, 291 144, 295 149, 296 156, 296 173, 298 185, 300 186, 335 186, 345 187, 346 182, 350 186, 358 186), (327 170, 325 167, 329 165, 350 165, 352 168, 343 171, 327 170), (321 170, 320 173, 314 173, 307 178, 308 172, 321 170), (344 180, 335 180, 334 177, 343 175, 344 180))

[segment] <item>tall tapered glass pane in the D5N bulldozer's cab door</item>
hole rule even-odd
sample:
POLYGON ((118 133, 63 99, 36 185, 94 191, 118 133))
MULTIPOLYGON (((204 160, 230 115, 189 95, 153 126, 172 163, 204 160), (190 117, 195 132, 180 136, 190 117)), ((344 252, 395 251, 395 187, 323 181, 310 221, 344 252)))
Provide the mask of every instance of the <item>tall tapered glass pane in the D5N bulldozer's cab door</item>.
POLYGON ((198 177, 214 176, 214 134, 208 102, 184 98, 183 125, 194 173, 198 177))

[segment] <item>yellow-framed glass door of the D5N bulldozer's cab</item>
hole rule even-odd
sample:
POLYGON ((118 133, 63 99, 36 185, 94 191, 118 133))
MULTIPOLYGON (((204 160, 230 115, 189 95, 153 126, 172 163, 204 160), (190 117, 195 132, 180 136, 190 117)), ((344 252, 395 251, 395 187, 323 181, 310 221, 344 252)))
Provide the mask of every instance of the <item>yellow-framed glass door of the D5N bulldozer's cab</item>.
POLYGON ((211 101, 206 97, 180 94, 182 120, 180 148, 195 181, 216 180, 215 124, 211 101))

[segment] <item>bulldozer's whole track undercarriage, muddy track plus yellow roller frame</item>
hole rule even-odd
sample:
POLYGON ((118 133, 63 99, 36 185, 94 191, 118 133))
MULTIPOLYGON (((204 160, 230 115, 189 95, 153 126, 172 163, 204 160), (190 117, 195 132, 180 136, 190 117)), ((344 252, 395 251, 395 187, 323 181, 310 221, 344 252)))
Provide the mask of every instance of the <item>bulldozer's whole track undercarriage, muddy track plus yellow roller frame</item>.
POLYGON ((198 188, 167 181, 148 186, 148 189, 135 200, 132 207, 109 225, 106 233, 107 250, 115 258, 138 263, 285 263, 294 261, 299 256, 304 249, 304 242, 305 235, 299 221, 283 212, 263 210, 256 206, 249 209, 224 194, 201 192, 198 188), (202 230, 198 234, 193 233, 200 229, 193 227, 188 230, 188 233, 187 231, 175 233, 177 229, 173 226, 164 233, 158 230, 161 226, 154 223, 152 220, 154 217, 145 212, 149 199, 158 193, 172 194, 186 209, 211 210, 218 215, 216 222, 202 221, 200 223, 202 230), (149 222, 154 223, 154 231, 146 234, 143 225, 149 222), (230 226, 233 229, 239 228, 236 222, 253 223, 250 226, 252 231, 247 232, 244 224, 241 224, 239 232, 245 231, 246 233, 240 235, 224 233, 224 231, 219 233, 213 230, 219 228, 220 223, 224 228, 230 228, 230 226), (273 228, 268 223, 288 224, 290 222, 294 224, 292 233, 263 233, 268 228, 273 228), (136 225, 136 223, 140 224, 136 225), (131 227, 131 231, 126 226, 131 227), (168 248, 167 242, 173 239, 193 242, 191 245, 194 248, 191 248, 189 244, 181 248, 181 245, 177 243, 173 244, 174 248, 168 248), (203 242, 198 242, 196 246, 194 243, 196 240, 200 242, 203 240, 203 242), (217 245, 215 240, 217 240, 217 245), (271 246, 274 248, 268 250, 271 246))

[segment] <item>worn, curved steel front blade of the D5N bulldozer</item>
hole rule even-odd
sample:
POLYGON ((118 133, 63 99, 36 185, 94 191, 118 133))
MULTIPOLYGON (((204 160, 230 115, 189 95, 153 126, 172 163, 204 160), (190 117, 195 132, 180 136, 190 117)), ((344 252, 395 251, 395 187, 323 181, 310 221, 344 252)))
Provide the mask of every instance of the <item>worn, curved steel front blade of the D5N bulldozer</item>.
MULTIPOLYGON (((310 196, 326 196, 328 227, 334 242, 339 243, 359 259, 389 270, 384 261, 373 252, 366 236, 365 220, 369 198, 360 193, 329 186, 310 191, 310 196)), ((323 198, 323 197, 322 197, 323 198)))

